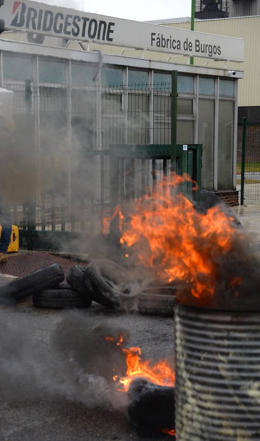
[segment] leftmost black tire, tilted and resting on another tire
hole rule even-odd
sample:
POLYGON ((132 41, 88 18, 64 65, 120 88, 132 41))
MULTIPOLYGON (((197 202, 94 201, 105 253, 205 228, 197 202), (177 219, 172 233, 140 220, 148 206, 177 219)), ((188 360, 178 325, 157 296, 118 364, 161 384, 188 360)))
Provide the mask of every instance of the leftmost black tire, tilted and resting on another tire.
POLYGON ((0 287, 0 298, 14 298, 19 301, 29 295, 57 286, 63 280, 64 273, 61 266, 53 264, 0 287))

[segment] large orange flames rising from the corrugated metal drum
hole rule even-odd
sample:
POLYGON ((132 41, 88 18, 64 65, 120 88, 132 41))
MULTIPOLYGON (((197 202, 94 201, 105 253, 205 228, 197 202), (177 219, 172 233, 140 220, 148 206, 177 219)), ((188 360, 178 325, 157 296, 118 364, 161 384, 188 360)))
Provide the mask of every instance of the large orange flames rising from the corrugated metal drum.
MULTIPOLYGON (((156 199, 135 201, 135 213, 130 215, 120 243, 129 247, 142 244, 140 262, 153 268, 163 282, 182 281, 191 287, 194 297, 210 299, 218 279, 218 259, 232 249, 238 233, 232 218, 219 207, 201 214, 178 193, 184 180, 189 178, 173 174, 167 187, 163 181, 158 184, 156 199)), ((117 213, 123 225, 118 207, 117 213)))

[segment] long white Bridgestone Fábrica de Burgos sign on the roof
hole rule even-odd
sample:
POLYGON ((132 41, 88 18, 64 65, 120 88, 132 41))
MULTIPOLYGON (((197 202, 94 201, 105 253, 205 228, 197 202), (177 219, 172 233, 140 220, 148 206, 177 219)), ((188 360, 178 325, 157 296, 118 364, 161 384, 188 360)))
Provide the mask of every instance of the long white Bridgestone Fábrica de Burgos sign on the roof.
POLYGON ((0 16, 9 29, 214 60, 244 61, 244 40, 240 38, 118 19, 35 1, 5 1, 0 16))

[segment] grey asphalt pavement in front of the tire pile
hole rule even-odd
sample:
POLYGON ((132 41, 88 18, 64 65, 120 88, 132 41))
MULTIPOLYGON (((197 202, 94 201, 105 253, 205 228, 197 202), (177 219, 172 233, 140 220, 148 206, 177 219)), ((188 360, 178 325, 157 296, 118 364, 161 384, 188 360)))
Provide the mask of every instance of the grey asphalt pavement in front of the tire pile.
MULTIPOLYGON (((140 346, 143 359, 173 358, 172 318, 121 314, 93 303, 70 322, 66 313, 37 309, 30 301, 16 307, 0 306, 0 441, 174 439, 138 433, 127 416, 126 395, 120 398, 123 405, 113 400, 107 404, 105 385, 93 380, 91 387, 91 377, 85 378, 69 366, 74 357, 87 356, 91 361, 92 354, 87 344, 79 344, 78 354, 74 354, 68 343, 66 352, 68 335, 80 341, 84 326, 93 325, 106 326, 111 332, 126 329, 128 347, 140 346), (65 355, 55 354, 53 335, 60 337, 65 355)), ((97 347, 96 357, 98 352, 97 347)), ((107 354, 103 357, 101 352, 100 360, 109 364, 107 354)))

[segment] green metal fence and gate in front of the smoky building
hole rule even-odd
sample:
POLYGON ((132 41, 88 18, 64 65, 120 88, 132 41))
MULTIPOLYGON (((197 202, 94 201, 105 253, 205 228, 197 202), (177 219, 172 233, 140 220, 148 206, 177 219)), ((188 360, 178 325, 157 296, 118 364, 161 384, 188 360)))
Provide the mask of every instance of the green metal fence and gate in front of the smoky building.
MULTIPOLYGON (((177 72, 171 85, 8 88, 18 157, 8 196, 22 246, 78 250, 118 201, 152 194, 171 171, 200 186, 202 146, 176 145, 177 72)), ((192 197, 192 184, 182 191, 192 197)))

